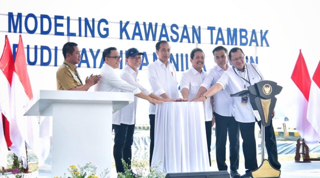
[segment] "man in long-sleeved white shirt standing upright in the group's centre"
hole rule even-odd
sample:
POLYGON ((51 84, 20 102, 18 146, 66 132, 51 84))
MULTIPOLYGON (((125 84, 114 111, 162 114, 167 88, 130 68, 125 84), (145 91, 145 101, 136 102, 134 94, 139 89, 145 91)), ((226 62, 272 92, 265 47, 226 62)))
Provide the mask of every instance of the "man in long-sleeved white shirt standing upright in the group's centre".
MULTIPOLYGON (((152 93, 165 99, 179 98, 176 68, 169 62, 169 43, 166 41, 159 41, 156 43, 156 54, 158 55, 159 59, 148 65, 148 79, 151 85, 152 93)), ((150 104, 150 166, 155 144, 155 114, 156 106, 150 104)))

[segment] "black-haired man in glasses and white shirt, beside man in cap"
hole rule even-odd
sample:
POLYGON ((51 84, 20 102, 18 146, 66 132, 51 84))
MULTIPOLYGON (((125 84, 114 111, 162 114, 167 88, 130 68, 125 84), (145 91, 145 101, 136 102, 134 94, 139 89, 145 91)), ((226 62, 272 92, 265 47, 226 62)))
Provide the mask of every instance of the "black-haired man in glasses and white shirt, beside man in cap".
MULTIPOLYGON (((139 54, 139 51, 137 54, 139 54)), ((163 102, 147 96, 141 92, 139 87, 133 86, 120 78, 116 69, 119 68, 122 58, 115 47, 105 49, 102 53, 102 58, 104 64, 101 67, 101 80, 96 85, 96 91, 132 92, 136 97, 146 99, 153 105, 163 102)), ((134 131, 134 124, 132 125, 132 122, 123 118, 124 114, 129 111, 123 112, 125 113, 121 114, 121 111, 117 111, 112 114, 112 128, 115 130, 113 156, 115 158, 116 171, 118 173, 124 172, 124 166, 122 165, 121 159, 124 159, 127 163, 131 164, 131 162, 128 161, 128 158, 131 158, 132 135, 134 131)))

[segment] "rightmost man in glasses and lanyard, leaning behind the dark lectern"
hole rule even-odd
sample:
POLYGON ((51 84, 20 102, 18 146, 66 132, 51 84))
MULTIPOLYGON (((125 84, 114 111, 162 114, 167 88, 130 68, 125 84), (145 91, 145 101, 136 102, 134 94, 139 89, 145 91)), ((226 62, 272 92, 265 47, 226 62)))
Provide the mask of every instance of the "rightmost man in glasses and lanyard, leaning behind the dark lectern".
MULTIPOLYGON (((206 97, 211 97, 222 89, 229 89, 229 94, 234 94, 247 89, 248 86, 254 83, 264 80, 258 69, 258 65, 245 63, 244 58, 245 56, 241 48, 232 48, 229 52, 229 60, 233 67, 225 71, 217 83, 195 101, 205 102, 206 97)), ((261 120, 259 115, 252 110, 252 106, 248 100, 248 96, 233 98, 234 116, 236 121, 239 122, 241 137, 243 139, 244 165, 247 169, 246 173, 241 177, 250 177, 250 171, 258 168, 254 125, 259 120, 258 125, 261 127, 261 120)), ((275 112, 273 111, 272 117, 274 117, 274 114, 275 112)), ((281 165, 278 162, 276 136, 272 121, 270 126, 265 127, 265 141, 270 164, 274 168, 280 169, 281 165)))

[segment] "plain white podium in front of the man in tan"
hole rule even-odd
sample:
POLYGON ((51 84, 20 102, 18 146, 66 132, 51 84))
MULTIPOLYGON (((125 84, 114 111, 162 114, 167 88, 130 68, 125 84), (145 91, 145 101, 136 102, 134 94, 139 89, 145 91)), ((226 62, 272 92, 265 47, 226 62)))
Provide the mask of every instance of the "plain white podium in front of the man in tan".
POLYGON ((25 113, 53 116, 51 165, 39 165, 39 176, 68 176, 69 166, 89 162, 97 175, 108 168, 110 176, 112 113, 132 101, 133 93, 40 90, 25 113))

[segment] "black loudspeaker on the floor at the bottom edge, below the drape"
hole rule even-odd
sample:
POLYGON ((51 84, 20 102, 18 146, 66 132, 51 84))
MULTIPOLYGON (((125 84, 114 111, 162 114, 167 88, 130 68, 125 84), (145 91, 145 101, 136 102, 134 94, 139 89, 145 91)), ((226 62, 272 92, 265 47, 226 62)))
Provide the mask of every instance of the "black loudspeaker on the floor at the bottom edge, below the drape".
POLYGON ((194 173, 168 173, 165 178, 193 177, 193 178, 230 178, 228 171, 194 172, 194 173))

